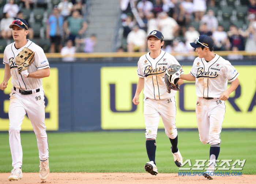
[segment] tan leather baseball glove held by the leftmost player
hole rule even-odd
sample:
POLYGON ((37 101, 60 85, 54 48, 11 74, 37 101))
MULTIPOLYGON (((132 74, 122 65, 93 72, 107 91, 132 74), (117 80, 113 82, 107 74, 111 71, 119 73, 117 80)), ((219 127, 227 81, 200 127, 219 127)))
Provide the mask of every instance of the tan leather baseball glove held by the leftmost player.
POLYGON ((18 65, 18 72, 20 73, 23 70, 27 70, 27 68, 34 61, 35 52, 30 50, 27 47, 24 47, 22 51, 15 57, 15 62, 18 65))

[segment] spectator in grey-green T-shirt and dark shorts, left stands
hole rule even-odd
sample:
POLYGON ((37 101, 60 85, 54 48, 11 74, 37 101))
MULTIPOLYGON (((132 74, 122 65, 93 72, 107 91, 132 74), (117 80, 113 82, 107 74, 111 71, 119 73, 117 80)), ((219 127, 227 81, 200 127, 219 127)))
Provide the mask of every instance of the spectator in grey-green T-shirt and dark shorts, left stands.
POLYGON ((65 20, 64 29, 67 35, 69 35, 68 39, 75 43, 75 38, 80 38, 87 29, 87 22, 80 16, 79 11, 75 10, 73 11, 72 16, 65 20))

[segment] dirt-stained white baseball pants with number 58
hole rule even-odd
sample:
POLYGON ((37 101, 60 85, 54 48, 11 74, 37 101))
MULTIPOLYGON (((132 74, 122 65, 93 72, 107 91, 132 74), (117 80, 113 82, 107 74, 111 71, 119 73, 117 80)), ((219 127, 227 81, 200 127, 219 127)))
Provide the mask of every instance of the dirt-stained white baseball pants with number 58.
POLYGON ((197 98, 196 120, 199 139, 203 144, 221 143, 220 133, 225 114, 225 101, 197 98))

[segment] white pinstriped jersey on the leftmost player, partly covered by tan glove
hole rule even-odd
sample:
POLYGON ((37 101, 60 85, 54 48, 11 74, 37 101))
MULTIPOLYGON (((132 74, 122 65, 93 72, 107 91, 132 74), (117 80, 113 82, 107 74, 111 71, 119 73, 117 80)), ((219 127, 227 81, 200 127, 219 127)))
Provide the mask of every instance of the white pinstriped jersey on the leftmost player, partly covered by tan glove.
MULTIPOLYGON (((28 73, 49 67, 49 62, 45 56, 44 50, 27 39, 27 44, 24 47, 27 47, 35 52, 34 62, 28 67, 28 73)), ((18 73, 18 66, 15 62, 15 57, 22 51, 23 47, 16 48, 15 42, 9 44, 4 50, 4 64, 9 64, 12 75, 12 85, 16 88, 23 90, 38 89, 42 86, 42 79, 36 78, 23 78, 21 74, 18 73)))

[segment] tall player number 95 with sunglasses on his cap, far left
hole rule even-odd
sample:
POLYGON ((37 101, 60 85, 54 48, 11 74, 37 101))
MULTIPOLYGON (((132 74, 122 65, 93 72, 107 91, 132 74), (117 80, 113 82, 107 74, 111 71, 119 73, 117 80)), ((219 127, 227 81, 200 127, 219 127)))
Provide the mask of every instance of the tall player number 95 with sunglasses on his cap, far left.
POLYGON ((41 47, 26 39, 28 24, 23 19, 12 21, 9 26, 12 28, 14 43, 8 45, 4 50, 3 63, 5 64, 4 81, 0 89, 7 88, 8 80, 12 77, 12 89, 9 106, 9 142, 12 154, 12 166, 9 180, 22 178, 22 146, 20 143, 20 129, 22 120, 27 113, 37 137, 37 145, 40 158, 39 176, 45 180, 49 175, 49 150, 45 126, 45 102, 42 78, 49 77, 50 69, 48 60, 41 47), (34 53, 34 62, 19 73, 16 65, 16 56, 26 53, 24 50, 31 50, 34 53), (23 51, 23 52, 22 52, 23 51))

